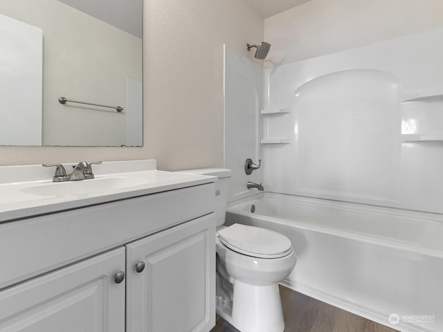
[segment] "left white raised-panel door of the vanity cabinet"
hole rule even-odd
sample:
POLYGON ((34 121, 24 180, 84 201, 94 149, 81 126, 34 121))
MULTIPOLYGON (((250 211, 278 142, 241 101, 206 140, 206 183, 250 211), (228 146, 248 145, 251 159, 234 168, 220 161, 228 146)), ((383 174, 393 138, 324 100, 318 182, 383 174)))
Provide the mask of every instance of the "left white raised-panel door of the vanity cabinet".
POLYGON ((120 270, 125 248, 4 288, 0 331, 125 331, 125 282, 114 282, 120 270))

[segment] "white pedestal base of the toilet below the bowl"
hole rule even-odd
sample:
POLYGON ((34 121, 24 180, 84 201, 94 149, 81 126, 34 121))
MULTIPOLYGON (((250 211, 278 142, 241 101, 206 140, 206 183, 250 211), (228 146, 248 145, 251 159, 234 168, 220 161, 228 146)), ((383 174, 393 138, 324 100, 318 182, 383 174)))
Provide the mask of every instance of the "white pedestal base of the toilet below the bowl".
POLYGON ((255 286, 235 280, 232 312, 217 307, 217 313, 242 332, 282 332, 284 320, 278 284, 255 286))

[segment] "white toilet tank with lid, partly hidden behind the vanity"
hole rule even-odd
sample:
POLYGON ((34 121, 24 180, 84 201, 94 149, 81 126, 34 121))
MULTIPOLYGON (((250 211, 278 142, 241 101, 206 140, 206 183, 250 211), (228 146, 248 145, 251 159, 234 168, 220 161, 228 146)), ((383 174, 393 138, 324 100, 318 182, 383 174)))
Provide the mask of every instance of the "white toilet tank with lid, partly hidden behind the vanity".
POLYGON ((229 180, 232 171, 227 168, 199 168, 177 172, 217 176, 218 180, 215 182, 215 222, 217 227, 223 225, 228 205, 229 180))

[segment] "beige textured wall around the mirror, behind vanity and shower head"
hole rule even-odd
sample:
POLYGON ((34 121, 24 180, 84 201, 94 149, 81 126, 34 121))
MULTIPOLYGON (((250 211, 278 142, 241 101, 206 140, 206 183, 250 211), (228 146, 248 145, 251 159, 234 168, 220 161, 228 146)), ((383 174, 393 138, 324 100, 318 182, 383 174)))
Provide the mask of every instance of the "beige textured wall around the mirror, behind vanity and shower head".
POLYGON ((223 44, 250 56, 245 45, 261 41, 263 19, 238 0, 145 0, 143 19, 143 147, 0 147, 0 165, 144 158, 167 170, 223 165, 223 44))

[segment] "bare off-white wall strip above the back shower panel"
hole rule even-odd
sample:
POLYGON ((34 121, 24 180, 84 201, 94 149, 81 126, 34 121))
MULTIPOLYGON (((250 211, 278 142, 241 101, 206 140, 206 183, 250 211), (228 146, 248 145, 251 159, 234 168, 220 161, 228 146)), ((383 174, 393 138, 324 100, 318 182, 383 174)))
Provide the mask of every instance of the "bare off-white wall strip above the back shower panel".
POLYGON ((267 66, 443 26, 441 0, 311 0, 264 20, 267 66))

